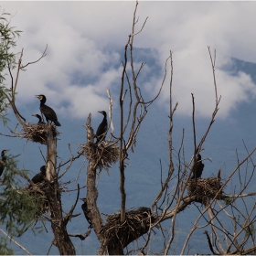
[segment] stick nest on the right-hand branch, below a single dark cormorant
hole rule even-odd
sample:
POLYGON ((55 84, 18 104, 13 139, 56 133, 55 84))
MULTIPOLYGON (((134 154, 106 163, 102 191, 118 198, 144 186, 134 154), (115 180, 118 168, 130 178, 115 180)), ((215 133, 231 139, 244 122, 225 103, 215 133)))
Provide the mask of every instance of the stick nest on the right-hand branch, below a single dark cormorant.
MULTIPOLYGON (((197 202, 207 205, 208 200, 217 195, 221 186, 221 178, 217 176, 190 179, 187 184, 187 192, 188 196, 196 197, 197 202)), ((217 198, 220 198, 222 195, 223 190, 219 192, 219 196, 217 198)))

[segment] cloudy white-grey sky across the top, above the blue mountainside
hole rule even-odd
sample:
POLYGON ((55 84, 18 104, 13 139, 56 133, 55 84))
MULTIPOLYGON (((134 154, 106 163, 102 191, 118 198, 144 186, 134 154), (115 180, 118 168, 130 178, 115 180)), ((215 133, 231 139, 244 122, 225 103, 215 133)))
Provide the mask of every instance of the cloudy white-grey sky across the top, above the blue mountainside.
MULTIPOLYGON (((115 94, 120 84, 134 6, 134 1, 1 2, 1 11, 13 15, 11 25, 23 31, 16 51, 24 48, 24 64, 39 58, 48 45, 47 57, 21 73, 18 104, 35 103, 36 94, 45 94, 58 115, 84 119, 89 112, 106 109, 105 89, 115 94)), ((152 60, 140 80, 147 98, 160 86, 172 50, 179 113, 191 115, 193 92, 198 114, 210 115, 215 102, 210 46, 217 50, 219 116, 225 118, 238 102, 253 99, 256 85, 251 77, 242 72, 230 76, 221 67, 232 65, 231 57, 256 62, 255 11, 256 2, 139 2, 136 29, 148 20, 134 47, 148 48, 144 57, 152 60)), ((166 111, 169 77, 168 72, 158 101, 166 111)))

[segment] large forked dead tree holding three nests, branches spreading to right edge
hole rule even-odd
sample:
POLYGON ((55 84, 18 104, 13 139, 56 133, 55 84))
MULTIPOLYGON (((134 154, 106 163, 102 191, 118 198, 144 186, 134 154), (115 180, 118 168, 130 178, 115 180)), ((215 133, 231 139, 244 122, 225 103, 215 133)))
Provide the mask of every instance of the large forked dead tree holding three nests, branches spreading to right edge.
MULTIPOLYGON (((192 127, 194 131, 194 151, 191 154, 191 157, 187 161, 185 155, 183 154, 183 138, 181 138, 181 144, 179 149, 174 153, 174 148, 172 144, 173 137, 173 116, 176 112, 176 108, 178 106, 177 102, 175 106, 172 103, 172 79, 173 79, 173 60, 172 60, 172 52, 170 52, 170 56, 166 59, 165 63, 165 75, 166 75, 166 66, 168 60, 171 63, 171 79, 170 79, 170 126, 168 132, 168 145, 169 145, 169 166, 167 170, 167 176, 165 180, 161 180, 161 189, 159 193, 156 195, 154 202, 152 203, 151 208, 141 207, 135 210, 128 210, 125 208, 126 202, 126 193, 125 193, 125 160, 128 158, 128 154, 130 154, 130 150, 133 151, 134 146, 136 144, 136 137, 139 134, 139 130, 141 127, 141 123, 144 120, 146 113, 148 112, 149 106, 155 101, 158 97, 159 93, 162 90, 162 86, 165 81, 165 75, 162 85, 159 87, 159 91, 155 98, 150 101, 144 100, 144 95, 142 92, 142 86, 138 84, 138 77, 140 72, 143 71, 145 63, 143 62, 138 70, 134 69, 133 63, 133 40, 134 37, 140 34, 143 30, 146 20, 144 21, 143 26, 139 29, 138 32, 135 32, 135 25, 137 23, 136 20, 136 11, 137 11, 138 3, 136 3, 134 14, 133 14, 133 26, 132 33, 128 37, 128 41, 124 47, 124 55, 123 55, 123 73, 121 78, 121 91, 119 94, 119 104, 120 104, 120 133, 118 136, 114 136, 113 131, 111 133, 111 138, 114 137, 114 140, 111 138, 107 142, 103 142, 100 145, 95 145, 93 143, 93 130, 91 128, 91 115, 88 118, 88 122, 86 124, 87 129, 87 144, 83 144, 81 147, 83 148, 83 153, 86 158, 89 160, 89 166, 87 169, 87 202, 88 202, 88 217, 92 223, 92 228, 95 231, 95 234, 101 242, 101 247, 99 250, 99 254, 123 254, 123 249, 127 247, 133 240, 137 240, 142 237, 144 234, 147 234, 147 239, 145 240, 144 246, 138 249, 134 249, 133 251, 139 251, 143 254, 149 253, 148 251, 148 243, 151 240, 151 233, 153 229, 159 229, 163 233, 163 251, 162 253, 168 254, 172 248, 173 241, 176 236, 176 216, 181 211, 184 211, 187 206, 191 204, 201 204, 204 208, 201 211, 198 219, 203 218, 204 213, 208 212, 208 220, 207 226, 211 227, 213 231, 213 238, 211 239, 208 236, 208 232, 205 232, 207 235, 207 240, 209 242, 209 248, 212 250, 212 253, 219 252, 219 254, 223 253, 244 253, 254 251, 254 246, 251 249, 243 250, 242 247, 246 244, 246 241, 250 236, 252 236, 252 224, 253 220, 246 220, 246 224, 242 225, 241 232, 246 234, 245 239, 240 243, 239 246, 236 246, 235 250, 231 251, 230 248, 235 246, 237 236, 235 235, 231 237, 226 234, 226 230, 223 228, 222 232, 229 238, 229 246, 227 250, 216 249, 216 242, 219 242, 219 248, 221 248, 220 238, 217 233, 217 226, 215 224, 216 221, 219 221, 217 215, 220 212, 225 213, 225 208, 220 208, 218 212, 214 206, 219 204, 222 200, 229 201, 229 198, 232 198, 232 201, 239 197, 246 197, 246 195, 238 196, 228 196, 225 194, 224 187, 229 183, 231 177, 238 171, 239 166, 243 165, 249 159, 251 159, 251 155, 254 153, 255 149, 248 152, 246 158, 239 162, 238 167, 234 170, 234 172, 227 178, 226 181, 221 179, 220 173, 218 176, 201 178, 197 180, 191 180, 190 176, 193 170, 194 165, 197 164, 197 155, 202 150, 202 146, 208 136, 208 133, 212 127, 212 124, 215 122, 215 117, 219 110, 219 101, 220 97, 218 96, 217 91, 217 81, 215 76, 215 56, 212 58, 210 48, 208 48, 211 68, 213 71, 213 81, 214 81, 214 90, 215 90, 215 108, 212 112, 212 117, 209 121, 208 127, 204 135, 197 140, 197 130, 196 130, 196 122, 195 122, 195 109, 196 109, 196 101, 194 94, 192 93, 192 127), (128 60, 129 59, 129 60, 128 60), (128 100, 127 100, 128 98, 128 100), (124 101, 127 100, 125 106, 128 106, 127 109, 124 109, 124 101), (110 147, 114 148, 114 152, 111 152, 110 147), (120 212, 113 213, 108 215, 107 219, 103 221, 101 218, 100 210, 97 206, 97 197, 98 190, 95 186, 97 170, 101 171, 104 166, 109 168, 116 162, 116 149, 118 148, 118 160, 119 160, 119 170, 120 170, 120 194, 121 194, 121 207, 120 212), (178 159, 177 168, 174 165, 173 155, 176 154, 176 159, 178 159), (115 155, 113 158, 110 155, 115 155), (113 160, 114 159, 114 160, 113 160), (110 163, 106 164, 110 160, 110 163), (170 185, 173 180, 176 180, 176 186, 173 186, 173 190, 170 191, 170 185), (165 229, 162 229, 162 223, 165 219, 171 219, 171 228, 165 232, 165 229), (216 219, 216 220, 215 220, 216 219), (224 231, 225 230, 225 231, 224 231), (165 233, 168 233, 166 235, 165 233)), ((109 94, 110 95, 110 94, 109 94)), ((112 112, 109 112, 109 115, 112 115, 112 112)), ((183 132, 183 136, 184 136, 183 132)), ((254 168, 254 167, 253 167, 254 168)), ((247 185, 246 185, 247 186, 247 185)), ((240 192, 242 189, 240 190, 240 192)), ((250 194, 251 195, 251 194, 250 194)), ((254 195, 254 194, 253 194, 254 195)), ((231 207, 234 208, 234 207, 231 207)), ((254 207, 253 207, 254 209, 254 207)), ((250 211, 249 216, 252 216, 252 209, 250 211)), ((228 213, 227 213, 228 214, 228 213)), ((232 218, 232 214, 228 214, 230 218, 232 218)), ((187 240, 184 243, 184 247, 180 251, 181 254, 185 253, 187 248, 187 242, 190 240, 191 234, 195 229, 198 229, 196 226, 197 221, 195 222, 195 228, 191 229, 187 236, 187 240)), ((238 221, 235 222, 238 225, 238 221)), ((234 224, 234 225, 235 225, 234 224)), ((235 225, 235 226, 236 226, 235 225)), ((225 225, 223 225, 225 226, 225 225)), ((222 247, 223 248, 223 247, 222 247)))

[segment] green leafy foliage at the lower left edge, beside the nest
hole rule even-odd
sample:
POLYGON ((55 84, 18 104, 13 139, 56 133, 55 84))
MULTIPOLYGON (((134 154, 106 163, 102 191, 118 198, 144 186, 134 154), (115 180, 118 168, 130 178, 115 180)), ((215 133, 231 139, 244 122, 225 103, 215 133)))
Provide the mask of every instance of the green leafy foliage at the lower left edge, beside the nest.
POLYGON ((0 184, 0 224, 5 225, 9 236, 19 237, 30 226, 40 206, 37 197, 31 197, 19 179, 26 177, 26 170, 16 169, 16 156, 7 157, 3 181, 0 184))

